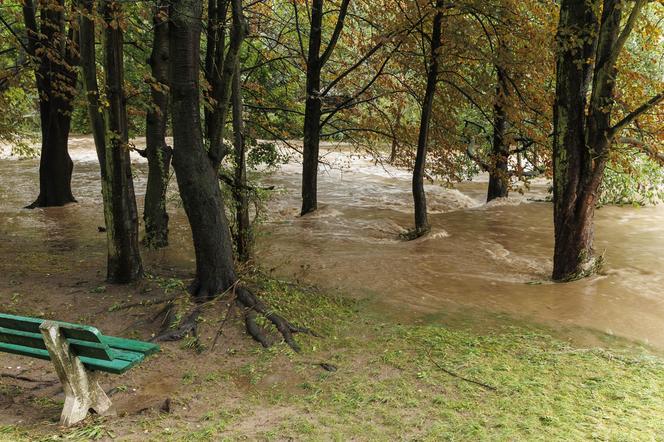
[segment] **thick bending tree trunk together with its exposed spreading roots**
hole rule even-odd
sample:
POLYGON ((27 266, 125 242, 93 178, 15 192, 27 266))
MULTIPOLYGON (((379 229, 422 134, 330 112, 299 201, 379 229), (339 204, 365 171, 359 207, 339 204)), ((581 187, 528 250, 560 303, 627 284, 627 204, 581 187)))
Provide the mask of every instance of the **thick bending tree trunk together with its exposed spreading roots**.
MULTIPOLYGON (((237 35, 244 32, 244 19, 241 3, 233 1, 237 8, 233 34, 237 35)), ((274 324, 288 345, 297 351, 299 347, 293 333, 310 331, 293 326, 238 284, 215 159, 203 146, 198 84, 202 9, 201 0, 173 0, 169 25, 173 168, 196 252, 196 278, 191 292, 198 301, 205 301, 232 289, 237 303, 244 308, 247 332, 254 339, 265 347, 271 344, 256 322, 256 315, 260 314, 274 324)), ((183 321, 184 328, 169 330, 158 339, 180 339, 190 331, 195 334, 199 313, 200 308, 195 308, 183 321)))

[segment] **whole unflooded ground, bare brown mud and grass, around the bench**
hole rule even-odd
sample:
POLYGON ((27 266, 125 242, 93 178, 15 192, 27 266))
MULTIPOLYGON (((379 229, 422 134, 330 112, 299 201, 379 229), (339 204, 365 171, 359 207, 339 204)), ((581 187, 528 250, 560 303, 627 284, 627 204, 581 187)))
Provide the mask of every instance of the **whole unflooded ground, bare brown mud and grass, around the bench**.
MULTIPOLYGON (((149 270, 176 278, 107 286, 103 257, 89 248, 99 245, 13 244, 0 268, 2 311, 149 339, 159 330, 159 301, 186 296, 178 278, 188 275, 155 269, 148 256, 149 270)), ((477 312, 403 323, 368 301, 256 271, 245 281, 320 337, 298 335, 299 354, 283 343, 263 349, 224 297, 205 306, 200 345, 163 343, 129 372, 104 375, 117 416, 73 428, 58 425, 63 394, 50 364, 0 354, 0 440, 664 437, 664 358, 653 350, 600 335, 584 343, 477 312)))

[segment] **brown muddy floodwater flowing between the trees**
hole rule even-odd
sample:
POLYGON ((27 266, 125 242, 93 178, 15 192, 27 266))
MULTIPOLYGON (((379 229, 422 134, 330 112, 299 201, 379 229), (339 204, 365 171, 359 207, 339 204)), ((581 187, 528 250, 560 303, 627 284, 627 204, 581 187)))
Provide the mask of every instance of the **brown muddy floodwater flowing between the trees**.
MULTIPOLYGON (((37 210, 22 207, 37 196, 38 160, 0 159, 3 274, 40 251, 54 256, 75 251, 80 260, 104 255, 91 139, 74 138, 71 155, 79 204, 37 210)), ((539 202, 546 197, 546 181, 535 181, 523 196, 492 204, 484 203, 481 176, 454 189, 428 186, 432 233, 405 242, 398 235, 413 223, 409 173, 349 152, 330 151, 325 161, 320 210, 306 217, 298 216, 297 163, 263 179, 276 192, 259 229, 256 255, 273 274, 368 297, 411 318, 456 310, 497 312, 664 348, 664 206, 598 210, 596 249, 604 254, 604 270, 582 281, 552 284, 552 206, 539 202)), ((142 207, 147 167, 139 158, 135 162, 142 207)), ((172 245, 148 254, 147 264, 162 273, 187 274, 193 251, 174 192, 169 212, 172 245)))

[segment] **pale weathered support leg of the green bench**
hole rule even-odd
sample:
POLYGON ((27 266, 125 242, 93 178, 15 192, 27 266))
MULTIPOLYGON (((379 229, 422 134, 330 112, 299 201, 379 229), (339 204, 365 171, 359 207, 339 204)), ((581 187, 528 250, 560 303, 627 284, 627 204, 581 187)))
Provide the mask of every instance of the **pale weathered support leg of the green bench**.
POLYGON ((60 424, 74 425, 85 419, 91 409, 97 414, 109 414, 111 400, 99 385, 97 374, 88 372, 80 359, 70 352, 69 343, 60 333, 58 324, 44 321, 39 328, 65 391, 60 424))

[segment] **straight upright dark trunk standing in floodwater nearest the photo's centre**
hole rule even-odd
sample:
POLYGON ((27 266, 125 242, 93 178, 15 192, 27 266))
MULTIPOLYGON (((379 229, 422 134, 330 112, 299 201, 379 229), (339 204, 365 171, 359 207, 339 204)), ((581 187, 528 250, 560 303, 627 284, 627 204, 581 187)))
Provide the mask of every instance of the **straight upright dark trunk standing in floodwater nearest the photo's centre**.
POLYGON ((318 208, 318 154, 320 148, 320 71, 323 0, 311 5, 311 32, 307 55, 307 98, 304 107, 304 143, 302 158, 302 209, 306 215, 318 208))

